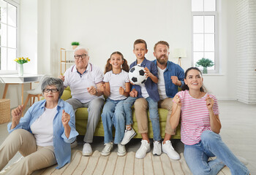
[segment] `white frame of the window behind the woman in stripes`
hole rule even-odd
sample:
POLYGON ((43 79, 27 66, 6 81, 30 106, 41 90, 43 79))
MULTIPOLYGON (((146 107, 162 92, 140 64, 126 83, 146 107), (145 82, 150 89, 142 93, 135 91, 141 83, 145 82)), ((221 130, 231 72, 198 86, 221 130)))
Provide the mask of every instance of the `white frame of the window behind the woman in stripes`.
MULTIPOLYGON (((216 11, 206 11, 206 12, 192 12, 192 66, 195 66, 194 63, 194 23, 193 23, 193 17, 194 16, 214 16, 214 70, 208 69, 208 74, 219 74, 219 32, 218 32, 218 14, 217 14, 217 7, 218 7, 218 1, 216 1, 216 11)), ((201 33, 201 34, 207 34, 207 33, 201 33)), ((205 52, 203 50, 203 52, 205 52)))

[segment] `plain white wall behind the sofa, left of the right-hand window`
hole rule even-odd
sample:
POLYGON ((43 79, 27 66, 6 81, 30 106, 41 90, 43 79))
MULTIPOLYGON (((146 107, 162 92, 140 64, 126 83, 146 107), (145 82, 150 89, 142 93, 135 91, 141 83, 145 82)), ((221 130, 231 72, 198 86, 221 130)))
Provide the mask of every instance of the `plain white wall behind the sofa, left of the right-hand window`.
POLYGON ((153 47, 159 40, 166 40, 171 48, 182 47, 190 52, 190 14, 189 0, 62 0, 57 45, 70 49, 71 42, 80 42, 89 48, 91 62, 102 69, 116 50, 123 53, 128 63, 135 61, 135 39, 146 40, 149 60, 154 60, 153 47))

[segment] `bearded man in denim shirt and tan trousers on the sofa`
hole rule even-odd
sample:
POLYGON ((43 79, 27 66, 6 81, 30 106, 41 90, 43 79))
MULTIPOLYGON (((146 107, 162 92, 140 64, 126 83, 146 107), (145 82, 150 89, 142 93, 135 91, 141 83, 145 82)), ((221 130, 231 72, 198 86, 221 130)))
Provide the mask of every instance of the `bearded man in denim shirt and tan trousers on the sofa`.
MULTIPOLYGON (((171 136, 175 135, 175 131, 170 127, 170 114, 172 113, 173 97, 178 93, 178 86, 184 85, 184 70, 178 64, 168 61, 169 53, 167 42, 160 41, 154 45, 154 56, 157 58, 154 63, 157 64, 159 77, 157 85, 160 101, 158 101, 158 106, 168 110, 162 152, 165 152, 169 158, 178 160, 180 156, 170 142, 171 136)), ((138 98, 135 101, 135 111, 145 110, 148 107, 146 102, 144 98, 138 98)))

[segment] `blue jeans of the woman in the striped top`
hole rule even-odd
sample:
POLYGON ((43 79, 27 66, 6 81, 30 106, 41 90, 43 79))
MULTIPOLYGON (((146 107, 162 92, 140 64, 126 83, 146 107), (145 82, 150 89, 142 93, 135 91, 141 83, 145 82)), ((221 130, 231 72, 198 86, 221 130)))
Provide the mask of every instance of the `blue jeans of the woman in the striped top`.
POLYGON ((213 131, 203 131, 201 141, 198 144, 184 147, 184 157, 192 174, 218 174, 227 166, 233 175, 249 174, 249 170, 241 163, 233 152, 222 141, 219 134, 213 131), (217 158, 208 161, 209 157, 217 158))

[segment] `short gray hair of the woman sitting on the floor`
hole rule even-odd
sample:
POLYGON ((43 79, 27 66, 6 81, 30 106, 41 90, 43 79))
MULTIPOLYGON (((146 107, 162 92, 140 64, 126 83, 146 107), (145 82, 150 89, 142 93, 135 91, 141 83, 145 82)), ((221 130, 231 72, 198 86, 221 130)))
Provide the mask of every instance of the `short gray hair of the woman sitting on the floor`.
POLYGON ((64 91, 63 81, 59 78, 46 77, 45 79, 42 80, 42 85, 41 85, 42 93, 44 93, 44 89, 48 87, 48 85, 55 86, 57 90, 59 90, 59 98, 61 98, 64 91))

